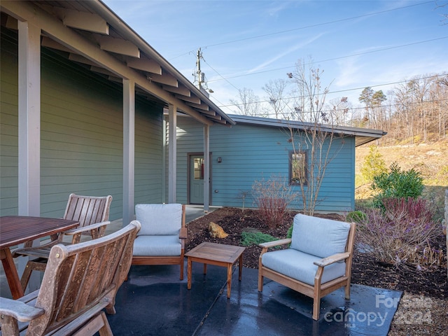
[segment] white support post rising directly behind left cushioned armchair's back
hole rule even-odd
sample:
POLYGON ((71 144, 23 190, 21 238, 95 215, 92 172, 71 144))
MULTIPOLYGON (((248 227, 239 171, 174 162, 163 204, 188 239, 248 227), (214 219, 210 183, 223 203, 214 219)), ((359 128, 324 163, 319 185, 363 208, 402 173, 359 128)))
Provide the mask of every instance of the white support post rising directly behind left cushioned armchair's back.
POLYGON ((168 147, 168 203, 176 203, 176 153, 177 153, 177 108, 169 104, 168 109, 169 147, 168 147))

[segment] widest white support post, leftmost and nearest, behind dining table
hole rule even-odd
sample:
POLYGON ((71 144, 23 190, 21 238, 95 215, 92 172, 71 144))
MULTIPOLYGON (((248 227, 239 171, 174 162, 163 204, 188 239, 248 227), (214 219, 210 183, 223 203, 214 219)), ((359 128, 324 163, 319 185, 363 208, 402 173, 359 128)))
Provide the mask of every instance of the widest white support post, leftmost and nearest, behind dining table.
POLYGON ((18 21, 19 215, 41 214, 41 29, 18 21))

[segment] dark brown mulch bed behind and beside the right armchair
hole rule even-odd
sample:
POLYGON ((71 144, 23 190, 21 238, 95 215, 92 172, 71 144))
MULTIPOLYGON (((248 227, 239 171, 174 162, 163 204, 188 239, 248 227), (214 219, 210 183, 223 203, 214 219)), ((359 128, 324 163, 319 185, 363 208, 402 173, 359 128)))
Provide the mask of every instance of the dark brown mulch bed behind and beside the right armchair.
MULTIPOLYGON (((207 214, 207 216, 197 218, 195 221, 188 223, 186 251, 190 251, 190 249, 202 243, 202 241, 241 246, 241 232, 248 230, 247 228, 259 230, 283 239, 286 237, 291 223, 293 223, 295 214, 297 213, 291 212, 285 223, 271 229, 259 218, 256 210, 246 209, 242 211, 241 209, 230 207, 216 209, 207 214), (210 237, 208 229, 211 221, 220 225, 229 234, 228 237, 221 239, 210 237)), ((338 214, 315 214, 314 216, 344 221, 344 217, 338 214)), ((444 236, 440 235, 440 241, 436 243, 440 244, 440 248, 444 250, 444 255, 447 255, 444 236)), ((260 252, 261 248, 258 246, 246 247, 243 255, 244 267, 258 269, 260 252)), ((395 267, 394 265, 384 264, 375 260, 371 255, 358 251, 353 254, 351 282, 379 288, 406 290, 408 293, 415 295, 427 295, 438 299, 448 298, 446 267, 433 269, 431 272, 422 272, 411 265, 395 267)))

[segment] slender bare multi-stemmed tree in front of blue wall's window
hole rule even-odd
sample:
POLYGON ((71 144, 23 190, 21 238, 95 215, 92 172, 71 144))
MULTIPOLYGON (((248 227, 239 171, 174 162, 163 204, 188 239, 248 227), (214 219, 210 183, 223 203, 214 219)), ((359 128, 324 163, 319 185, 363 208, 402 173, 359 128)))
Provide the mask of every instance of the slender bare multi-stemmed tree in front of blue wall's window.
POLYGON ((322 87, 321 71, 312 63, 305 66, 298 61, 294 73, 288 73, 293 80, 298 94, 295 99, 295 120, 303 123, 303 130, 292 125, 288 127, 290 142, 293 145, 291 167, 293 177, 300 186, 302 210, 304 214, 313 215, 321 202, 319 190, 323 183, 326 169, 337 149, 333 148, 337 137, 330 123, 330 114, 325 111, 325 97, 328 87, 322 87))

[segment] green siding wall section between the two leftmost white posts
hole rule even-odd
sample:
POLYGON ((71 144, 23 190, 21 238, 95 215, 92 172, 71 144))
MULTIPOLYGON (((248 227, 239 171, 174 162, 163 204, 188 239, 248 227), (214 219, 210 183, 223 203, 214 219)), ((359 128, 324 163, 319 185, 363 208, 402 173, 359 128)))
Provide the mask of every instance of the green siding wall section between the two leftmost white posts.
POLYGON ((123 214, 123 98, 119 87, 43 50, 41 216, 61 216, 69 193, 112 195, 123 214), (107 85, 107 86, 106 86, 107 85))

